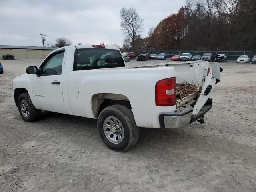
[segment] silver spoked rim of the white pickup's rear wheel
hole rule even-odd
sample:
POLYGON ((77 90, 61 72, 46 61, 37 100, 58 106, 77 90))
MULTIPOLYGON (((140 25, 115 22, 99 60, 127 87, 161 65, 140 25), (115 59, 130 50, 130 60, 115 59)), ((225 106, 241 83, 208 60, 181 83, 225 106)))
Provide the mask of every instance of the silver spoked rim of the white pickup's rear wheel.
POLYGON ((114 144, 118 144, 124 139, 123 125, 114 116, 109 116, 104 120, 103 129, 106 138, 114 144))

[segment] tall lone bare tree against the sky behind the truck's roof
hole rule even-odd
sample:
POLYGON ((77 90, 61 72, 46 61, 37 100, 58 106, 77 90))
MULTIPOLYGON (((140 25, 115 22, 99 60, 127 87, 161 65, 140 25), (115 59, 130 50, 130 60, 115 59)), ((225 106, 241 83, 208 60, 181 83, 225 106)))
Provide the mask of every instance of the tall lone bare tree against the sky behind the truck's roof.
POLYGON ((121 22, 120 26, 124 34, 132 40, 132 47, 135 47, 134 40, 143 30, 143 19, 140 18, 135 8, 122 8, 120 10, 121 22))

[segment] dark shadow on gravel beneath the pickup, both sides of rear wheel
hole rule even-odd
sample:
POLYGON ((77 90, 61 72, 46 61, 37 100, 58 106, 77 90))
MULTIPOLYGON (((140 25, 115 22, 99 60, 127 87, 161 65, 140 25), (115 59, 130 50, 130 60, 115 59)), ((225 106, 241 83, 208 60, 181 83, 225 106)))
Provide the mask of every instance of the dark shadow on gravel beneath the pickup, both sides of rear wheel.
MULTIPOLYGON (((67 129, 76 129, 84 135, 89 134, 90 131, 97 132, 97 120, 91 118, 84 118, 79 116, 72 116, 60 114, 55 112, 42 111, 41 117, 38 121, 40 124, 46 124, 58 127, 63 134, 67 129), (88 132, 88 129, 90 131, 88 132)), ((180 129, 162 129, 162 128, 140 128, 140 137, 136 148, 143 148, 150 142, 156 145, 178 145, 184 140, 191 140, 192 137, 183 128, 180 129)), ((98 141, 97 141, 98 142, 98 141)))

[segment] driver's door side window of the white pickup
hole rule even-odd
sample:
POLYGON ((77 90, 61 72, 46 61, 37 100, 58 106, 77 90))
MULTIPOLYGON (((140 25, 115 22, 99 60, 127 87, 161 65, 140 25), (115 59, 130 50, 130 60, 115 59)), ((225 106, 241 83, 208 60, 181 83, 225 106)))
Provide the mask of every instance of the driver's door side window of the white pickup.
POLYGON ((42 75, 61 74, 64 51, 54 54, 42 68, 42 75))

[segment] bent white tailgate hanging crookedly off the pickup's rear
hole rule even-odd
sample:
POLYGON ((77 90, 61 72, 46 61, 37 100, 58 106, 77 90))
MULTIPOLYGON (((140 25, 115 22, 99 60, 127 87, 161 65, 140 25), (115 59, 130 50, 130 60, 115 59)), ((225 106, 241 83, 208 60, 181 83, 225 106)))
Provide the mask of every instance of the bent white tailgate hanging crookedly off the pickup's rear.
POLYGON ((193 112, 191 115, 192 118, 194 118, 198 114, 198 112, 210 98, 214 86, 218 82, 220 82, 220 64, 214 62, 213 67, 210 70, 210 73, 206 77, 206 81, 204 82, 204 85, 202 87, 202 92, 196 104, 194 105, 193 112))

